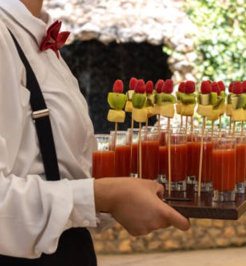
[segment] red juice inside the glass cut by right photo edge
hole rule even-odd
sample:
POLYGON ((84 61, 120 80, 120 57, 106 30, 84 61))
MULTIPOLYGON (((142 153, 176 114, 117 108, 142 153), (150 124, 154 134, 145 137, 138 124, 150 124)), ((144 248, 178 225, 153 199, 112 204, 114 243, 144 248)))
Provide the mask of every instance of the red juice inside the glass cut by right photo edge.
POLYGON ((246 176, 246 144, 236 146, 236 183, 243 183, 246 176))

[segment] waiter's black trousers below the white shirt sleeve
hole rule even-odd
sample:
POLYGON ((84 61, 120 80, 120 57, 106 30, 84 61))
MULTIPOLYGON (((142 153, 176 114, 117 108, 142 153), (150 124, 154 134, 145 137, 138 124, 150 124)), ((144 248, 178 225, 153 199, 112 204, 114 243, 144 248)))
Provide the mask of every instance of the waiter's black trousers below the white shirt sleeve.
POLYGON ((39 259, 0 255, 0 266, 96 266, 92 237, 86 228, 72 228, 62 233, 57 251, 39 259))

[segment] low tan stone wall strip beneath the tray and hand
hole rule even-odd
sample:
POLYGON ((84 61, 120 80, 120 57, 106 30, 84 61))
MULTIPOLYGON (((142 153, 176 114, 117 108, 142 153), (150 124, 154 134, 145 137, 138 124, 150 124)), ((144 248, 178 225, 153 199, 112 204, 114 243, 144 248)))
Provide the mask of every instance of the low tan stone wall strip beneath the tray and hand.
POLYGON ((246 214, 238 221, 191 219, 191 228, 158 230, 144 236, 130 236, 119 224, 94 234, 95 250, 100 254, 148 253, 172 250, 222 248, 246 244, 246 214))

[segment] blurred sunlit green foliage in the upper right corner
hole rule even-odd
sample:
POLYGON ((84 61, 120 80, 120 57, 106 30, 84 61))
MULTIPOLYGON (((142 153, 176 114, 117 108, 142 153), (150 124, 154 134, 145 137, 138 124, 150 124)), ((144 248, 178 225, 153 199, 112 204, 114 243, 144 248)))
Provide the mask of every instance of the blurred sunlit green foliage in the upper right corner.
POLYGON ((223 80, 227 86, 246 79, 246 1, 189 0, 185 10, 198 28, 197 79, 223 80))

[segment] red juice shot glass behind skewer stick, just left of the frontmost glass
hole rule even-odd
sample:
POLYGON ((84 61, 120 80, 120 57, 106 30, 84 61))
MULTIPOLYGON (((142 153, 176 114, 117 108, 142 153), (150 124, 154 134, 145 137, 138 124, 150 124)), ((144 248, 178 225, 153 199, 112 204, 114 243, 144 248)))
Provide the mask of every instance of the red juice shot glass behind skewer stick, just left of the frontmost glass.
MULTIPOLYGON (((195 188, 194 191, 198 191, 199 180, 199 167, 200 167, 200 151, 201 151, 201 139, 202 135, 197 134, 195 136, 195 188)), ((202 156, 202 172, 201 172, 201 192, 213 191, 212 183, 212 152, 213 152, 213 136, 211 133, 207 133, 203 138, 203 156, 202 156)))

